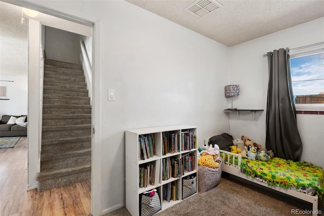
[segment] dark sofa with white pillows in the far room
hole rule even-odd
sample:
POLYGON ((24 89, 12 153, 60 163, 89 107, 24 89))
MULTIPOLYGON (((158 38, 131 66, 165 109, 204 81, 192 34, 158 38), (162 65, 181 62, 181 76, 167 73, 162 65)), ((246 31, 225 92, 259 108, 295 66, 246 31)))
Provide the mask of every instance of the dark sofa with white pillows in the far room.
POLYGON ((21 115, 21 116, 13 116, 17 118, 17 121, 15 122, 15 118, 11 119, 11 115, 3 115, 0 120, 0 137, 5 136, 27 136, 27 116, 21 115), (23 120, 24 118, 20 117, 26 117, 23 123, 19 122, 19 120, 23 120), (9 122, 9 120, 11 121, 9 122), (7 124, 7 123, 14 123, 14 124, 7 124), (18 124, 19 125, 18 125, 18 124), (20 126, 22 125, 22 126, 20 126))

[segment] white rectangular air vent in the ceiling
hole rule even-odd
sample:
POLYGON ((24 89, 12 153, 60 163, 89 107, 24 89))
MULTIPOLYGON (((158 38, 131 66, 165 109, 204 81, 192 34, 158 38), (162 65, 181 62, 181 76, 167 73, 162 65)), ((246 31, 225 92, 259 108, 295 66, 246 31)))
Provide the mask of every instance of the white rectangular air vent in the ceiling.
POLYGON ((184 10, 196 17, 201 18, 215 11, 219 7, 223 6, 214 0, 198 0, 184 10))

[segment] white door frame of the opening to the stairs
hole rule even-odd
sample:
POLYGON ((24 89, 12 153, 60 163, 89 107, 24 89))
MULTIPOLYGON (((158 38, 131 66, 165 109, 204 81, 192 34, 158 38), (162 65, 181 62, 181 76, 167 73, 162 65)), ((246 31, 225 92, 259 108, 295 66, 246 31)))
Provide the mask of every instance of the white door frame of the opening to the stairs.
MULTIPOLYGON (((80 14, 76 17, 52 8, 40 6, 31 2, 17 0, 2 0, 11 5, 36 10, 38 12, 69 20, 92 27, 92 174, 91 174, 91 212, 92 215, 100 215, 101 212, 101 146, 100 146, 100 26, 98 17, 89 17, 80 14), (83 17, 83 18, 81 18, 83 17)), ((29 79, 29 73, 28 73, 29 79)), ((28 98, 29 102, 29 98, 28 98)), ((32 111, 28 111, 32 112, 32 111)), ((40 154, 40 153, 39 153, 40 154)), ((29 177, 29 176, 28 176, 29 177)), ((29 185, 28 185, 29 186, 29 185)), ((35 186, 29 186, 33 188, 35 186)))

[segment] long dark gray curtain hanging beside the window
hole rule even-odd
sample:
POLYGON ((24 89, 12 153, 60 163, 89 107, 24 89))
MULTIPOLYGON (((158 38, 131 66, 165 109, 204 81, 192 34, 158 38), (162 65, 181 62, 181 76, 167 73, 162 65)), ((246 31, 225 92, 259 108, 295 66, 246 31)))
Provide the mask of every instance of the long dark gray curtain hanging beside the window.
POLYGON ((289 49, 269 52, 268 64, 265 145, 267 150, 272 150, 276 157, 299 161, 303 147, 296 122, 289 49))

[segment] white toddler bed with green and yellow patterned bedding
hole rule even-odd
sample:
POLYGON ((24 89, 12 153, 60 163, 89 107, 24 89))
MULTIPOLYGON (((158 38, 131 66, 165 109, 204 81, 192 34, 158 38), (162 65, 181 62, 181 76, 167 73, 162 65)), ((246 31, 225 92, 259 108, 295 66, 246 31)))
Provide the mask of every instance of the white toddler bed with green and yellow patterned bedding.
MULTIPOLYGON (((205 143, 209 143, 209 138, 205 143)), ((324 173, 320 167, 280 158, 267 162, 248 160, 239 154, 219 151, 223 158, 222 171, 310 202, 313 208, 310 213, 317 215, 318 200, 324 198, 324 173)))

